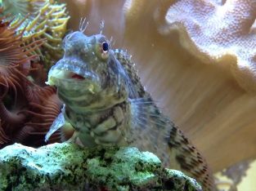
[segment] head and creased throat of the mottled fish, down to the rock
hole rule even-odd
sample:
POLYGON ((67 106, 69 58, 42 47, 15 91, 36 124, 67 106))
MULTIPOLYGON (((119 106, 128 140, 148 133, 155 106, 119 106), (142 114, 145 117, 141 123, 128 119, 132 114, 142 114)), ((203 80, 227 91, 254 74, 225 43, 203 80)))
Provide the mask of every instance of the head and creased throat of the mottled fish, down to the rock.
POLYGON ((84 146, 128 144, 131 82, 110 42, 101 34, 88 37, 78 31, 65 38, 64 49, 47 83, 57 87, 65 103, 63 114, 76 131, 74 140, 84 146))

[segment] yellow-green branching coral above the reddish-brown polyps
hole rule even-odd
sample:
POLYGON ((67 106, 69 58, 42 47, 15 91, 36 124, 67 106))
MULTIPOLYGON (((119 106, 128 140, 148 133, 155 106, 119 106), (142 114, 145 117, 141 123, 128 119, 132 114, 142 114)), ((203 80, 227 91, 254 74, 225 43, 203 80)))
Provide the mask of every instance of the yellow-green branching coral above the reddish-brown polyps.
POLYGON ((66 32, 66 24, 70 16, 65 11, 64 3, 53 0, 2 0, 3 15, 11 14, 11 25, 16 26, 24 20, 17 32, 25 29, 23 41, 25 44, 38 39, 46 39, 43 46, 34 51, 39 55, 45 69, 62 56, 61 41, 66 32), (28 15, 29 14, 29 15, 28 15), (14 16, 15 19, 12 17, 14 16))

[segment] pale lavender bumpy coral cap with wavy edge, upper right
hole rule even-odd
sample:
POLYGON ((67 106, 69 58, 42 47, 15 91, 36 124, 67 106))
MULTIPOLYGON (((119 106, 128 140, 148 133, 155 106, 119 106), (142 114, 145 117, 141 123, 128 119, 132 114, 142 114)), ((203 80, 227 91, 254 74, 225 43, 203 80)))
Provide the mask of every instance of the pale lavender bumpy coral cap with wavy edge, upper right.
POLYGON ((169 7, 161 33, 177 30, 182 46, 206 64, 223 64, 240 86, 256 91, 256 2, 182 0, 169 7), (232 18, 232 19, 231 19, 232 18))

